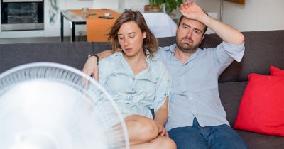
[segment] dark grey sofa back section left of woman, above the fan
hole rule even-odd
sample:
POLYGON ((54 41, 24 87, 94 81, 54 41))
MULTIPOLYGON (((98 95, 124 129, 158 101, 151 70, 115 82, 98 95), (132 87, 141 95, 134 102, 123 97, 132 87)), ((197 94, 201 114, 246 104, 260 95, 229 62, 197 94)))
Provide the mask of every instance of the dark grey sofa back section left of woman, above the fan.
POLYGON ((87 55, 109 49, 107 43, 0 44, 0 73, 30 62, 57 62, 82 70, 87 55))

